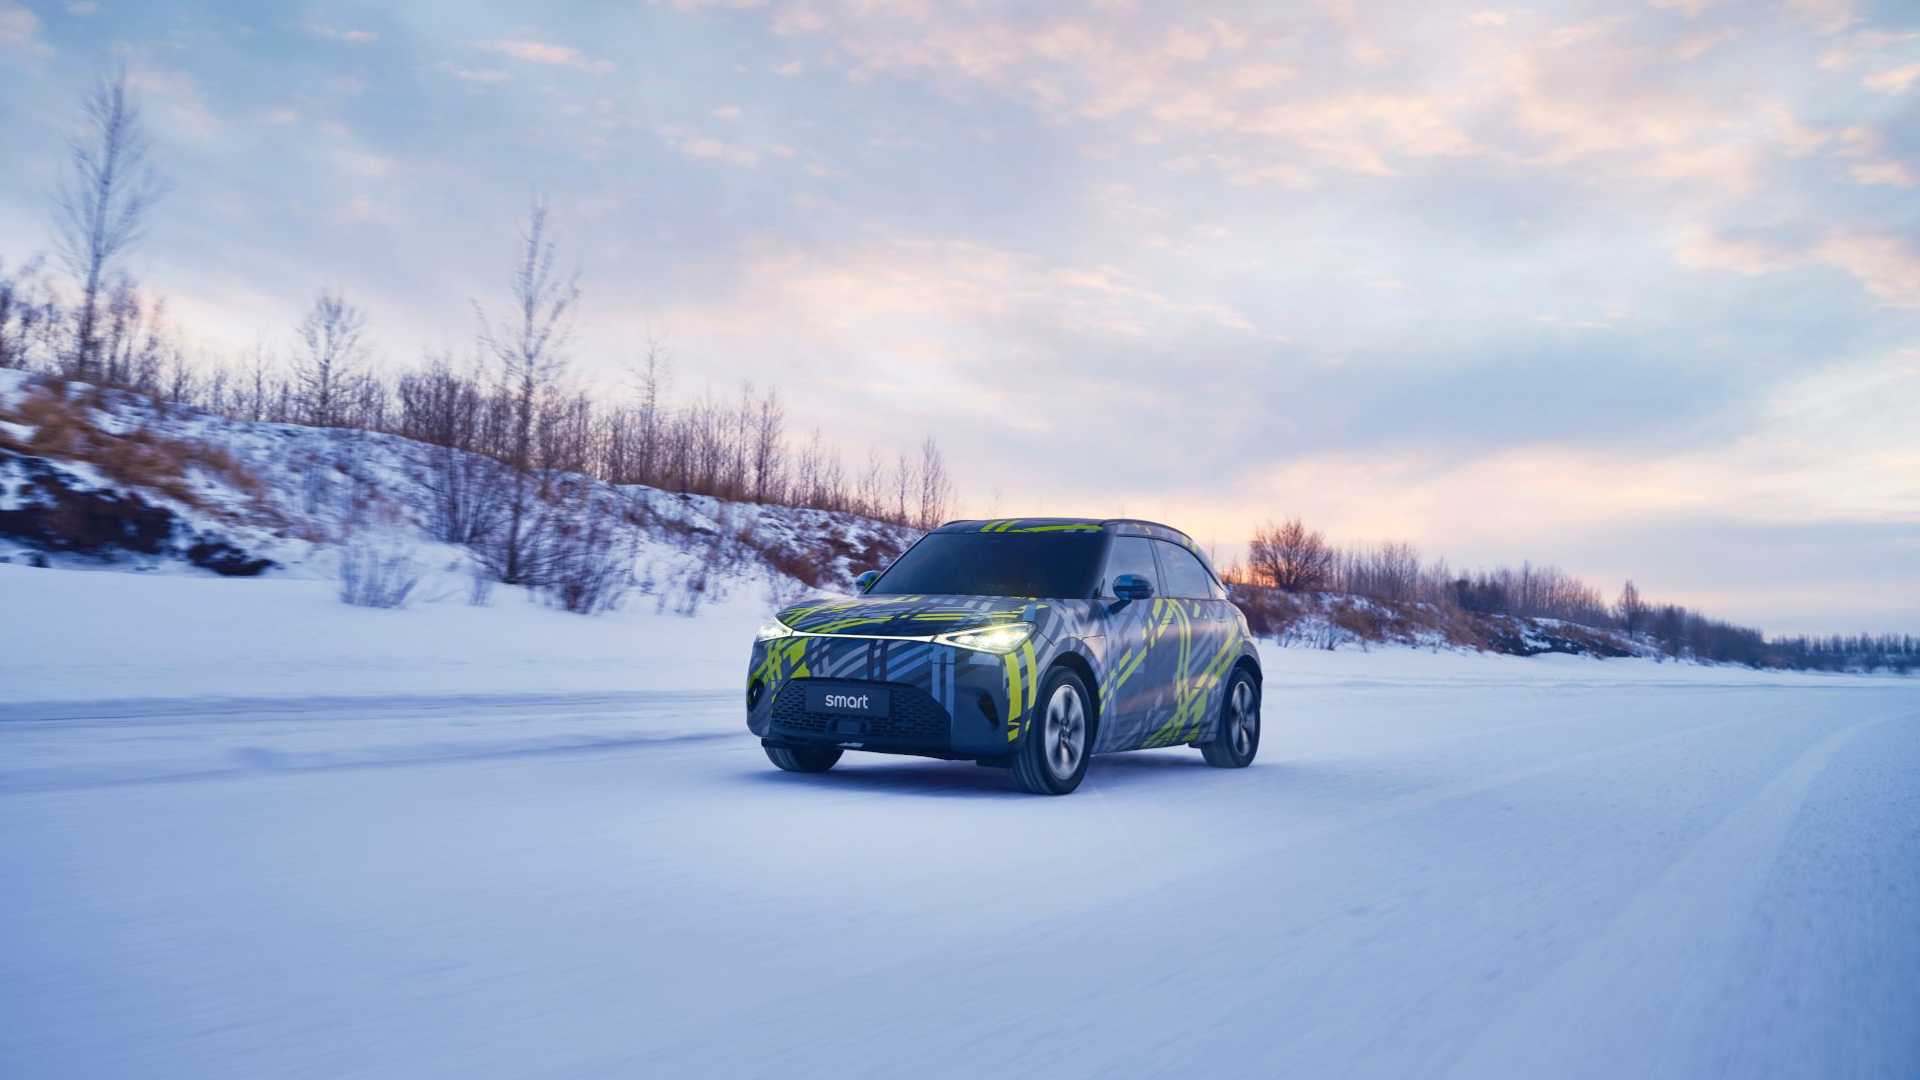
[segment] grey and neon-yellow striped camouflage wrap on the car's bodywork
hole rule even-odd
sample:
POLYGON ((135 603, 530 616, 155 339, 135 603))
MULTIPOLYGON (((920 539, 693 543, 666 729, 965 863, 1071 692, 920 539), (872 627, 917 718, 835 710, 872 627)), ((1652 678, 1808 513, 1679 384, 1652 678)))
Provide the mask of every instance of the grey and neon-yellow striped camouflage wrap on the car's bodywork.
MULTIPOLYGON (((1146 536, 1206 565, 1187 534, 1152 523, 996 519, 941 530, 1146 536)), ((774 721, 780 692, 795 680, 879 682, 925 694, 950 726, 939 744, 862 748, 939 757, 1010 753, 1031 730, 1056 663, 1075 665, 1094 696, 1094 753, 1200 742, 1219 723, 1235 665, 1252 663, 1258 676, 1260 663, 1238 609, 1217 598, 852 596, 797 603, 778 619, 793 636, 756 642, 749 659, 755 734, 795 738, 774 721), (1029 623, 1033 634, 1004 655, 937 640, 1008 623, 1029 623)))

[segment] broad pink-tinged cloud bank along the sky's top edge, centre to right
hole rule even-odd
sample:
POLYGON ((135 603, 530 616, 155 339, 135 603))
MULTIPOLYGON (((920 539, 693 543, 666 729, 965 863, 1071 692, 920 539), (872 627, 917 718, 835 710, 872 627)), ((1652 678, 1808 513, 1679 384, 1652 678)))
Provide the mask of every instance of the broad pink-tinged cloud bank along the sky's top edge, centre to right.
POLYGON ((1486 160, 1580 163, 1596 179, 1718 196, 1755 190, 1772 150, 1749 133, 1751 94, 1703 94, 1674 63, 1724 50, 1736 25, 1659 37, 1622 12, 1482 10, 1465 23, 1501 33, 1448 40, 1340 6, 1311 25, 862 0, 789 4, 770 19, 778 35, 828 42, 826 61, 856 81, 914 77, 962 102, 1023 102, 1083 140, 1104 131, 1231 184, 1308 190, 1342 173, 1486 160))

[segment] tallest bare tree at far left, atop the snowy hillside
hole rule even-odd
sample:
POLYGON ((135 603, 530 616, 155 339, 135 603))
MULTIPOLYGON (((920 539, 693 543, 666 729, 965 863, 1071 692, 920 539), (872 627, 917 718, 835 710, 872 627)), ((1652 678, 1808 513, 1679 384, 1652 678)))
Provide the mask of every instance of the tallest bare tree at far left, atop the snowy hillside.
POLYGON ((98 379, 102 294, 115 261, 146 234, 165 183, 148 160, 152 144, 127 88, 127 69, 100 79, 81 110, 86 121, 71 142, 67 179, 54 194, 54 234, 60 261, 81 284, 67 369, 79 379, 98 379))

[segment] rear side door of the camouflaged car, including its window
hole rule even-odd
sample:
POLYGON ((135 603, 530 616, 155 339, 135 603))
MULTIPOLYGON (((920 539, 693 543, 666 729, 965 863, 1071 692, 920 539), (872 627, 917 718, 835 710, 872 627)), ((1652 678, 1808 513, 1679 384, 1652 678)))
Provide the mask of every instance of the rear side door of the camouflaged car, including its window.
POLYGON ((1140 746, 1181 746, 1206 736, 1219 715, 1240 625, 1198 555, 1169 540, 1152 544, 1165 596, 1150 630, 1160 694, 1148 703, 1140 746))

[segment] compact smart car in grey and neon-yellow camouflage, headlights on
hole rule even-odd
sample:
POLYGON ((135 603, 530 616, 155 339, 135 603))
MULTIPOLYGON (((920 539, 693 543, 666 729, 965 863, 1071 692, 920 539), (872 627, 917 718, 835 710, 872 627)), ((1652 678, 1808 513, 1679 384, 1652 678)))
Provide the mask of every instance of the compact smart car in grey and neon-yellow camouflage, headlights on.
POLYGON ((1064 796, 1096 753, 1260 751, 1260 651, 1192 538, 1135 519, 950 521, 753 642, 747 728, 789 773, 845 751, 1008 767, 1064 796))

